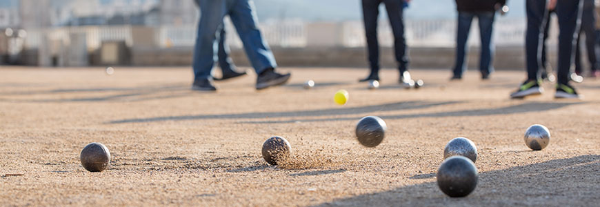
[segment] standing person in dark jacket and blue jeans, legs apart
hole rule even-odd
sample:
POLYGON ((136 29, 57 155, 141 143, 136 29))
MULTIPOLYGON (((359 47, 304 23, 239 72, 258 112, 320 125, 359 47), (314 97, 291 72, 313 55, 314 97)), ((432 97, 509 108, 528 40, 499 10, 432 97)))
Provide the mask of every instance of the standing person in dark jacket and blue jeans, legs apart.
POLYGON ((456 0, 458 10, 457 48, 456 60, 452 69, 450 80, 459 80, 463 77, 466 67, 467 40, 471 30, 471 22, 477 17, 479 22, 479 36, 481 38, 481 55, 479 57, 479 70, 481 79, 490 78, 494 72, 492 59, 494 57, 494 17, 496 11, 506 5, 506 0, 456 0))

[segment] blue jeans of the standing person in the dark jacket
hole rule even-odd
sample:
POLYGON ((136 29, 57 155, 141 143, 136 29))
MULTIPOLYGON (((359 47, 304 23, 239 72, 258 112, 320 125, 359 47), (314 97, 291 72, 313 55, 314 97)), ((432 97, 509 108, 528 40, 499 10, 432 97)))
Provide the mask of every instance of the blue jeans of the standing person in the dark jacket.
POLYGON ((479 36, 481 37, 481 56, 479 57, 479 70, 482 75, 490 75, 494 68, 492 59, 494 56, 494 44, 492 43, 492 33, 494 30, 494 12, 459 12, 457 28, 457 51, 454 61, 454 77, 462 77, 467 69, 465 60, 467 40, 471 30, 471 22, 474 17, 479 21, 479 36))

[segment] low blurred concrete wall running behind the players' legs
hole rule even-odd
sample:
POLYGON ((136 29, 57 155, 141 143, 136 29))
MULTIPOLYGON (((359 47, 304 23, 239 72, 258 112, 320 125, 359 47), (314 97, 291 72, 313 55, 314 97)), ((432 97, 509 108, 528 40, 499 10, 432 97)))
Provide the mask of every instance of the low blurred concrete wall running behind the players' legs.
MULTIPOLYGON (((365 48, 272 48, 279 66, 291 67, 353 67, 367 68, 365 48)), ((496 49, 494 67, 497 70, 522 70, 525 55, 521 46, 496 49)), ((411 68, 452 68, 454 66, 454 48, 411 48, 411 68)), ((549 52, 550 63, 556 61, 555 52, 549 52)), ((232 50, 234 63, 238 66, 250 66, 243 50, 232 50)), ((192 48, 169 48, 164 50, 134 50, 132 64, 135 66, 190 66, 192 48)), ((381 66, 396 68, 392 48, 381 48, 381 66)), ((471 48, 468 67, 479 69, 479 48, 471 48)))

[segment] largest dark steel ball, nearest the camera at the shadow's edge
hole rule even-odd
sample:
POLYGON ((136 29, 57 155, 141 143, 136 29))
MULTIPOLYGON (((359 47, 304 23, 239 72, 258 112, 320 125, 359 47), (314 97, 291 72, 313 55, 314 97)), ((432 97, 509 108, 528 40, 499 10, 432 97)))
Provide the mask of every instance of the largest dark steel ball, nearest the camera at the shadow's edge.
POLYGON ((479 173, 473 162, 463 156, 444 160, 437 170, 437 186, 450 197, 465 197, 477 186, 479 173))

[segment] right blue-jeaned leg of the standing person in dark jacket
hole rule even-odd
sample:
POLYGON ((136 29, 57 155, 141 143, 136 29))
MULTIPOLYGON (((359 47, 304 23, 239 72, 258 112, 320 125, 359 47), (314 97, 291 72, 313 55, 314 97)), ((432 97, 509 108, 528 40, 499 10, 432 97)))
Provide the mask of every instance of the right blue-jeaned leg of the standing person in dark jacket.
POLYGON ((477 14, 477 19, 479 21, 479 37, 481 37, 479 70, 481 70, 482 79, 488 79, 489 75, 494 72, 494 66, 492 66, 495 47, 492 38, 494 32, 494 16, 496 16, 495 12, 481 12, 477 14))

